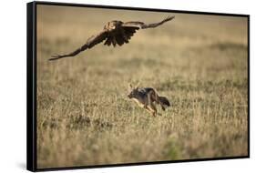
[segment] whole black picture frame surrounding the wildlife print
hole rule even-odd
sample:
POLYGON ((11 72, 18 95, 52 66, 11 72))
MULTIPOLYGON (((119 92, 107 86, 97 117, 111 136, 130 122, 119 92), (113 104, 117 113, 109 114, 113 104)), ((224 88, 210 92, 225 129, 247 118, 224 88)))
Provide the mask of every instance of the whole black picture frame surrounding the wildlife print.
POLYGON ((180 11, 170 9, 152 9, 141 7, 128 6, 109 6, 109 5, 83 5, 83 4, 69 4, 69 3, 55 3, 55 2, 31 2, 26 5, 26 29, 27 29, 27 68, 26 68, 26 168, 30 171, 47 171, 47 170, 64 170, 76 168, 109 168, 109 167, 123 167, 123 166, 138 166, 148 164, 166 164, 177 162, 193 162, 193 161, 207 161, 207 160, 221 160, 234 158, 250 158, 250 15, 241 14, 226 14, 226 13, 211 13, 211 12, 197 12, 197 11, 180 11), (224 158, 197 158, 197 159, 183 159, 183 160, 169 160, 169 161, 155 161, 155 162, 139 162, 113 165, 95 165, 83 167, 67 167, 67 168, 36 168, 36 5, 61 5, 61 6, 79 6, 79 7, 94 7, 94 8, 108 8, 108 9, 124 9, 124 10, 138 10, 138 11, 155 11, 155 12, 173 12, 182 14, 196 14, 196 15, 223 15, 223 16, 241 16, 246 17, 248 28, 248 155, 239 157, 224 157, 224 158))

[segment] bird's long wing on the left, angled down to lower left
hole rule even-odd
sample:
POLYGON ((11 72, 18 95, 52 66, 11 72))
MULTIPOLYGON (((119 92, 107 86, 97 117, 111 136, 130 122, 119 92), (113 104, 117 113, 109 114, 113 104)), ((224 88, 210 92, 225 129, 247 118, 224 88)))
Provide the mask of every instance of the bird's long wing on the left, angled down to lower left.
POLYGON ((74 52, 71 52, 69 54, 65 54, 65 55, 54 55, 52 56, 53 58, 50 58, 49 61, 53 61, 56 59, 60 59, 63 57, 68 57, 68 56, 77 56, 77 54, 79 54, 80 52, 91 48, 93 46, 96 46, 97 44, 99 44, 100 42, 104 41, 108 36, 108 31, 107 30, 103 30, 102 32, 100 32, 99 34, 97 34, 96 36, 91 36, 87 39, 87 43, 79 48, 77 48, 77 50, 75 50, 74 52))

